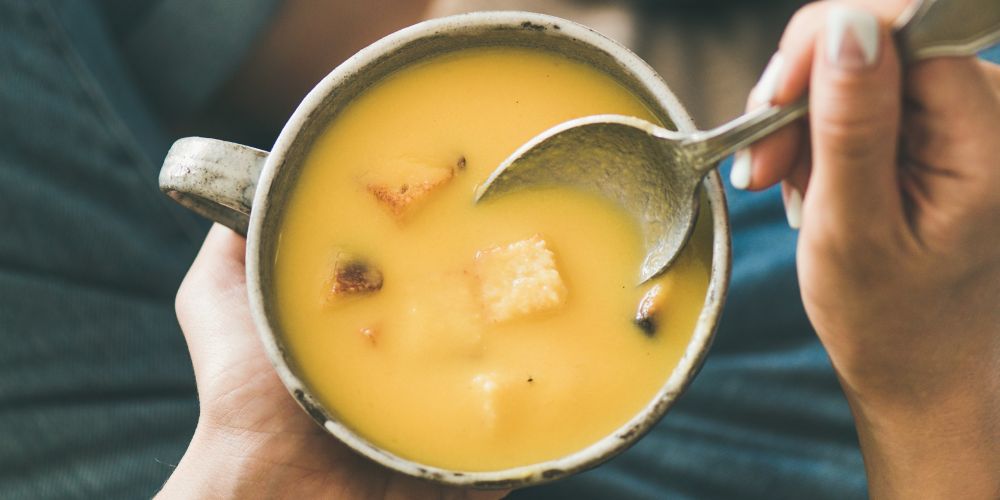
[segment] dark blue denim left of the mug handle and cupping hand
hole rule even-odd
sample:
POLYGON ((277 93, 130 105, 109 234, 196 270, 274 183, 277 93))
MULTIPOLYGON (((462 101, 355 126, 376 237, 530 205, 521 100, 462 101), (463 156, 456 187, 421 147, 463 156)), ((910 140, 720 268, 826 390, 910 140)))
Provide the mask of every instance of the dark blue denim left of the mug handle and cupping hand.
POLYGON ((208 225, 159 192, 170 138, 112 35, 0 1, 0 498, 149 497, 197 418, 173 297, 208 225))

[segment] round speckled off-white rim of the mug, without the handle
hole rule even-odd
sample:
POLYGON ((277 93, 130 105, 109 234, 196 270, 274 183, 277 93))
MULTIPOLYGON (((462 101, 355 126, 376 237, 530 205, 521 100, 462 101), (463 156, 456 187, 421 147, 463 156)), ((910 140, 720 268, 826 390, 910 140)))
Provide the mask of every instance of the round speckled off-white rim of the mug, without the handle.
MULTIPOLYGON (((728 210, 721 176, 712 171, 703 181, 703 189, 709 200, 712 215, 712 263, 705 301, 698 316, 690 341, 684 354, 664 380, 657 393, 626 423, 603 438, 556 459, 520 465, 495 471, 450 470, 430 466, 400 457, 375 445, 359 433, 339 422, 330 411, 309 396, 305 384, 290 368, 282 348, 278 345, 277 334, 271 328, 265 294, 261 283, 261 269, 268 265, 262 260, 261 238, 264 237, 265 220, 271 201, 271 191, 279 171, 288 159, 288 153, 300 131, 315 119, 315 111, 325 99, 345 81, 377 61, 381 56, 401 49, 417 40, 438 35, 458 34, 474 28, 518 28, 549 30, 559 36, 571 38, 594 49, 604 51, 622 65, 623 71, 632 76, 650 93, 654 104, 665 111, 681 132, 694 132, 696 128, 690 116, 670 91, 662 78, 638 55, 625 46, 593 30, 592 28, 563 18, 523 11, 484 11, 458 14, 423 21, 372 43, 365 47, 317 83, 295 109, 281 130, 274 147, 267 157, 261 172, 253 199, 247 232, 246 283, 250 299, 250 310, 257 334, 282 384, 293 395, 296 402, 306 410, 323 428, 354 451, 395 471, 430 479, 435 482, 473 486, 480 488, 512 488, 528 484, 552 481, 588 468, 594 467, 623 452, 634 444, 672 407, 679 395, 694 379, 711 346, 715 329, 729 284, 731 272, 731 243, 728 210)), ((544 49, 540 49, 544 50, 544 49)), ((612 75, 613 76, 613 75, 612 75)))

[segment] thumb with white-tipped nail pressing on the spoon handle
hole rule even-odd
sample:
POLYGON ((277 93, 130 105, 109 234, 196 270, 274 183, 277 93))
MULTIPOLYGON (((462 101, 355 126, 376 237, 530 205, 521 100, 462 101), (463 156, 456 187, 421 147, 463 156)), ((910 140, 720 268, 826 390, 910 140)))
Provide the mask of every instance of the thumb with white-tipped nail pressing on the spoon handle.
POLYGON ((877 222, 902 215, 899 58, 888 27, 853 6, 831 6, 816 43, 809 103, 813 172, 804 224, 838 233, 877 230, 877 222))

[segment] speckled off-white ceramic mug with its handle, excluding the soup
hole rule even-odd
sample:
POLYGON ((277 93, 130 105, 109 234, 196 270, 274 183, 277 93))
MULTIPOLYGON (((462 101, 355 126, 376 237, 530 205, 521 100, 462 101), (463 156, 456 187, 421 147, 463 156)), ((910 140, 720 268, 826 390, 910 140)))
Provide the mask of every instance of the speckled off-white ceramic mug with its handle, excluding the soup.
MULTIPOLYGON (((530 47, 596 67, 629 89, 668 127, 694 131, 666 84, 638 56, 603 35, 556 17, 525 12, 482 12, 435 19, 389 35, 326 76, 285 124, 270 153, 214 139, 177 141, 160 172, 160 188, 178 203, 247 236, 246 282, 254 323, 288 391, 330 434, 358 453, 399 472, 477 488, 510 488, 552 481, 600 464, 649 431, 674 404, 701 366, 729 283, 730 233, 719 174, 704 181, 713 225, 708 293, 691 342, 656 396, 613 433, 570 455, 505 470, 445 470, 400 458, 342 424, 303 383, 277 321, 274 257, 280 217, 303 161, 317 137, 365 89, 407 65, 476 46, 530 47)), ((704 210, 704 207, 703 207, 704 210)))

